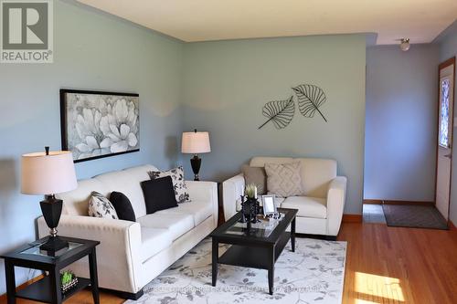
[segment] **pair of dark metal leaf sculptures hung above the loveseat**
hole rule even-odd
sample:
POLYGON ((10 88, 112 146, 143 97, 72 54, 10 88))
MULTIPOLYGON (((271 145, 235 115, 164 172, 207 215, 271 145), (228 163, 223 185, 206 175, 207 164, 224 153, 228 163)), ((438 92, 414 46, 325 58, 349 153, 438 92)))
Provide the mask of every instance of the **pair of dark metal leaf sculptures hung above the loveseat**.
MULTIPOLYGON (((324 121, 327 122, 323 112, 319 110, 327 100, 323 89, 311 84, 302 84, 292 88, 292 90, 297 96, 298 109, 304 117, 313 118, 314 113, 317 111, 324 121)), ((291 123, 293 115, 295 114, 293 95, 288 100, 267 102, 262 108, 262 114, 268 118, 268 120, 262 123, 258 129, 261 129, 270 121, 273 122, 276 129, 284 129, 291 123)))

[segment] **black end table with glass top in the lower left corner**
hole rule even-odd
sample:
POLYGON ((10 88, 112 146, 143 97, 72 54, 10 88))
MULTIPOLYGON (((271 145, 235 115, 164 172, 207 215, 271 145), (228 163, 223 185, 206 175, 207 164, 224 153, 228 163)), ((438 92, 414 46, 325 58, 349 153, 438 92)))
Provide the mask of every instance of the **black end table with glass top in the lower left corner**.
POLYGON ((97 257, 95 246, 98 241, 59 236, 69 242, 69 247, 60 250, 56 257, 49 257, 39 250, 39 246, 48 240, 49 236, 36 242, 20 246, 16 250, 1 257, 5 258, 5 277, 8 304, 16 304, 16 298, 31 299, 39 302, 60 304, 69 299, 82 288, 90 286, 95 304, 100 303, 99 283, 97 278, 97 257), (78 285, 65 294, 60 290, 60 270, 76 262, 82 257, 89 256, 90 278, 78 278, 78 285), (37 280, 27 288, 16 291, 15 267, 26 267, 44 270, 48 276, 37 280))

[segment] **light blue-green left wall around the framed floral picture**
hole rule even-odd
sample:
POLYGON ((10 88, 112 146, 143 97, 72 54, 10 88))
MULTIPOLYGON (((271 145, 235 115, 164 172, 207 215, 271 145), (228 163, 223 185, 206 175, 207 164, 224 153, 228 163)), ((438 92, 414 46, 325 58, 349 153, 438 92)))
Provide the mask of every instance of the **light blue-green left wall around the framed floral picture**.
POLYGON ((0 65, 0 253, 35 239, 40 197, 19 194, 19 161, 45 145, 60 149, 60 88, 140 94, 141 152, 78 163, 79 178, 141 163, 169 168, 179 157, 182 43, 82 5, 54 9, 55 62, 0 65))

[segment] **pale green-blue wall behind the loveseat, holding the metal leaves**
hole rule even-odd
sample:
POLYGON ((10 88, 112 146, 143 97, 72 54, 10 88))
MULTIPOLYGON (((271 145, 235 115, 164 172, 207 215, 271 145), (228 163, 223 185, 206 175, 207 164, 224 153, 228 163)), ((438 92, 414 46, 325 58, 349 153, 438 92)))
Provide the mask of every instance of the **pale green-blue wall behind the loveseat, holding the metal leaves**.
MULTIPOLYGON (((348 178, 345 213, 360 214, 365 121, 365 35, 290 37, 185 45, 184 126, 209 131, 212 152, 201 177, 222 181, 252 156, 333 158, 348 178), (292 96, 292 86, 324 89, 318 114, 276 130, 261 115, 270 100, 292 96)), ((186 163, 186 172, 191 170, 186 163)), ((188 175, 190 176, 190 174, 188 175)))

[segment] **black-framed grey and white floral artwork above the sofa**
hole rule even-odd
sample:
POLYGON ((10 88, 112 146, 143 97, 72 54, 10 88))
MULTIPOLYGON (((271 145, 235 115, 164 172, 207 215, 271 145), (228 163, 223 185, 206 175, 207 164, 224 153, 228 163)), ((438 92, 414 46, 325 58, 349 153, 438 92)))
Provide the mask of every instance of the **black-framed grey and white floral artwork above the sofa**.
POLYGON ((60 127, 74 162, 138 152, 139 95, 60 89, 60 127))

